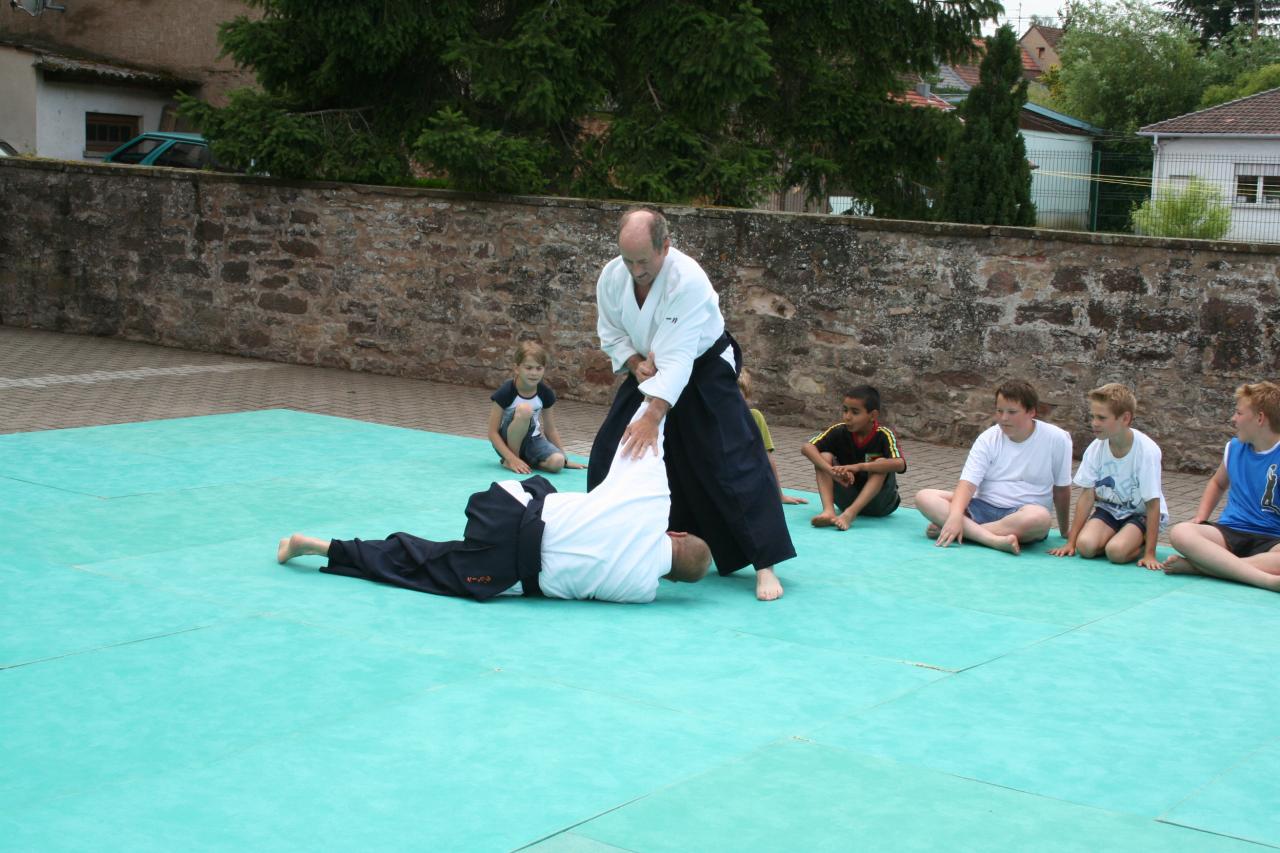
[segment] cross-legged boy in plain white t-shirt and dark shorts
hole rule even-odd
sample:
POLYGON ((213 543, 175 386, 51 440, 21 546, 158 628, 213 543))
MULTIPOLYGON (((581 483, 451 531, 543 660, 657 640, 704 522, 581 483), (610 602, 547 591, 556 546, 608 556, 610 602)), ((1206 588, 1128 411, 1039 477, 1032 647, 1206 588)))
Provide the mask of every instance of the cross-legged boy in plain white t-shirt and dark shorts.
POLYGON ((915 508, 929 520, 925 534, 940 547, 969 539, 1021 553, 1052 525, 1065 532, 1071 514, 1071 437, 1036 419, 1039 394, 1028 382, 996 389, 996 424, 969 450, 952 492, 920 489, 915 508))

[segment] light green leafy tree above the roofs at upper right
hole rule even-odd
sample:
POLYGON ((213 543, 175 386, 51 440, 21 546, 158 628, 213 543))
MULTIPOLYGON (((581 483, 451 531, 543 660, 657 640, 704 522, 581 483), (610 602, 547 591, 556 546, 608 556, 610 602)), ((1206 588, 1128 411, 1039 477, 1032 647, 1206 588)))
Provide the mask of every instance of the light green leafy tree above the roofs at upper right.
POLYGON ((1196 35, 1142 0, 1074 5, 1059 55, 1055 101, 1108 131, 1189 113, 1204 88, 1196 35))

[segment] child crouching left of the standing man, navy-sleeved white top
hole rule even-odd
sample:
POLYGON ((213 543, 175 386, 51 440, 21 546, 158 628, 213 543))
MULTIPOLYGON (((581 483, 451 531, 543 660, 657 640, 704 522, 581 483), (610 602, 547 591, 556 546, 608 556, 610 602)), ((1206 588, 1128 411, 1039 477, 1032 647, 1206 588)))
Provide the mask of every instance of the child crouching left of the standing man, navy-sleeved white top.
POLYGON ((586 467, 568 461, 552 406, 556 392, 543 382, 547 350, 536 341, 516 347, 515 377, 502 383, 489 400, 489 443, 502 457, 503 467, 532 474, 536 467, 556 474, 564 467, 586 467))

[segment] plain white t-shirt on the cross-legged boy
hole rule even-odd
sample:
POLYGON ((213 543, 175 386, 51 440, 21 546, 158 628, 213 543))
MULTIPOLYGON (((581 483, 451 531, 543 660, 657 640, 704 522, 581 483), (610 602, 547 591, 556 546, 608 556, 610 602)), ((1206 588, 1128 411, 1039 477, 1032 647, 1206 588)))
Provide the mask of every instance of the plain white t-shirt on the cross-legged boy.
POLYGON ((1071 437, 1061 426, 1033 423, 1036 429, 1021 442, 1000 426, 978 435, 960 473, 978 487, 975 498, 1002 508, 1038 503, 1053 511, 1053 487, 1071 484, 1071 437))

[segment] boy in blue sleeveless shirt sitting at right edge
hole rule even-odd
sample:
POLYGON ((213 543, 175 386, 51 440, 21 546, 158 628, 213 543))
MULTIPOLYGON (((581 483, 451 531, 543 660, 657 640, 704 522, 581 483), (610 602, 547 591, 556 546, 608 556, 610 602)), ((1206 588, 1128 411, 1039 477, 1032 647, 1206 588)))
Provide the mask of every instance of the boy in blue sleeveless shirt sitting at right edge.
POLYGON ((1196 517, 1169 532, 1179 553, 1162 569, 1280 592, 1280 386, 1236 388, 1231 423, 1235 438, 1204 487, 1196 517), (1226 508, 1210 521, 1224 492, 1226 508))

